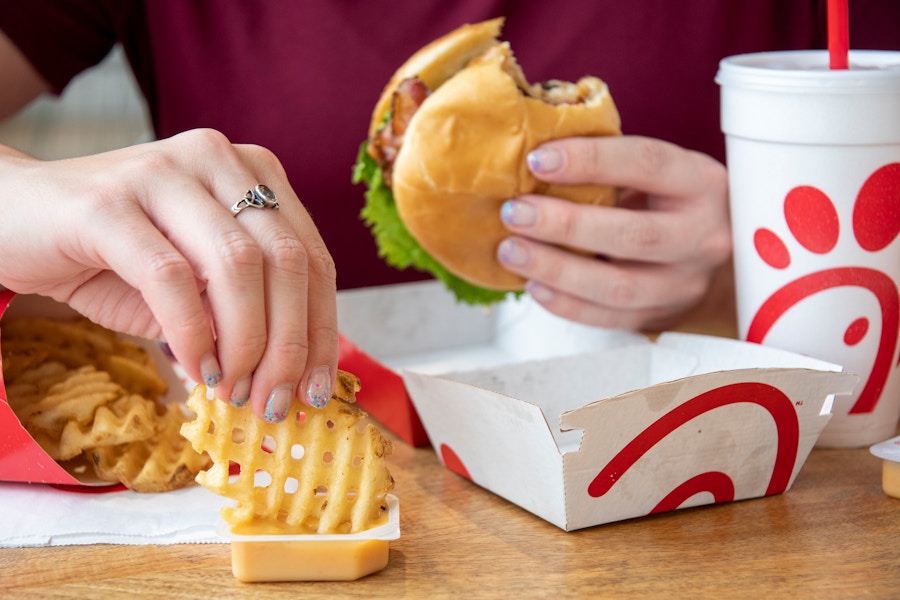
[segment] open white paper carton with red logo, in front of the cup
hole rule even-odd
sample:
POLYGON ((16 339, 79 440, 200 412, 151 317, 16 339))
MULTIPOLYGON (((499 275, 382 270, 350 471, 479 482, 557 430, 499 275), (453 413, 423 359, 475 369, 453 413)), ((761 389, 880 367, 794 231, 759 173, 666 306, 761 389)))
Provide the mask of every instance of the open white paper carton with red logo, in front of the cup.
POLYGON ((448 468, 565 530, 786 491, 859 379, 757 344, 584 327, 527 299, 445 310, 441 294, 345 293, 341 330, 401 372, 448 468))

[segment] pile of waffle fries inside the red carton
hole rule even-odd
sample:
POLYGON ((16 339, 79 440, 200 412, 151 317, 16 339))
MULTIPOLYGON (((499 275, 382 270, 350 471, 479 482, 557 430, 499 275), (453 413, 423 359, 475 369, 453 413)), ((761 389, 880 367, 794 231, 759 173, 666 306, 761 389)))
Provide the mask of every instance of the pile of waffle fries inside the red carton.
POLYGON ((84 318, 4 321, 3 377, 22 425, 57 461, 141 492, 192 485, 211 464, 181 437, 180 405, 137 344, 84 318))

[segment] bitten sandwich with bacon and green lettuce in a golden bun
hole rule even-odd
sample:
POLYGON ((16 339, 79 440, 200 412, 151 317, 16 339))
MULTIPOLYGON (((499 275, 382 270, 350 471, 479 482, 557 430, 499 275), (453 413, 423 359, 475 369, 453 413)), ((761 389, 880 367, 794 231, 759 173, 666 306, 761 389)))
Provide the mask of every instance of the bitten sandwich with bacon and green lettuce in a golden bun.
POLYGON ((559 138, 620 135, 603 81, 529 83, 503 19, 431 42, 394 74, 372 114, 353 172, 368 186, 361 216, 388 264, 440 279, 461 302, 490 304, 524 288, 496 258, 509 235, 506 200, 544 194, 611 205, 615 190, 548 184, 526 156, 559 138))

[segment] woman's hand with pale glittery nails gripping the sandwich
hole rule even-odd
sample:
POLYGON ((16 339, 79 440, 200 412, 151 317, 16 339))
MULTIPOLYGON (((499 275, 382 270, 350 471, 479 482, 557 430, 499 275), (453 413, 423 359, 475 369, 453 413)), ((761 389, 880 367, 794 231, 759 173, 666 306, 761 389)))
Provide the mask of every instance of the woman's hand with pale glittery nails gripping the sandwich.
POLYGON ((529 166, 544 181, 621 189, 615 207, 535 195, 503 206, 513 235, 498 258, 557 315, 668 327, 731 255, 727 175, 709 156, 642 137, 569 138, 537 148, 529 166))

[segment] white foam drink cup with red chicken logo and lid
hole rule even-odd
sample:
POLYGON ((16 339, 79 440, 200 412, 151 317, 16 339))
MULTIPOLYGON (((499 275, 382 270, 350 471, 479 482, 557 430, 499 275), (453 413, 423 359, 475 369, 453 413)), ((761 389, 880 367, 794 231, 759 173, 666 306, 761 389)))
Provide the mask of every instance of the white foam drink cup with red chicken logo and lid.
POLYGON ((900 418, 900 52, 721 61, 740 335, 843 365, 820 446, 895 435, 900 418))

